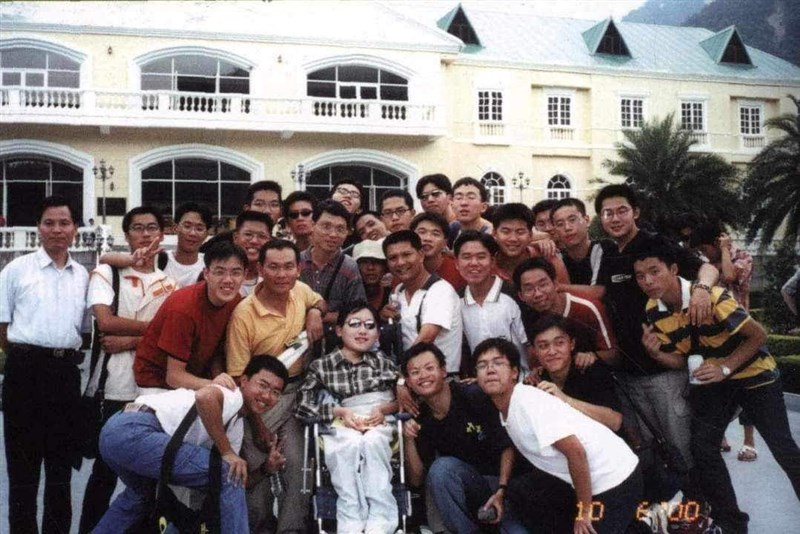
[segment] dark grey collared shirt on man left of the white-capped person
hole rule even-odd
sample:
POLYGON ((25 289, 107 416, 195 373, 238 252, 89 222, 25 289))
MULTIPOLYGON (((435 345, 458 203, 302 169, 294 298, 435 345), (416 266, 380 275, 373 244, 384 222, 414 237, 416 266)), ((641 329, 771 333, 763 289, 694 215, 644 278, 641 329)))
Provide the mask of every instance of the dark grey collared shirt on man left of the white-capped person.
POLYGON ((339 250, 322 268, 317 268, 311 259, 312 249, 313 247, 300 253, 300 280, 322 295, 328 304, 328 311, 338 312, 351 302, 367 300, 364 284, 361 282, 361 271, 358 270, 358 264, 353 258, 339 250), (333 275, 340 259, 342 266, 334 279, 333 275), (331 287, 330 293, 325 295, 328 284, 331 287))

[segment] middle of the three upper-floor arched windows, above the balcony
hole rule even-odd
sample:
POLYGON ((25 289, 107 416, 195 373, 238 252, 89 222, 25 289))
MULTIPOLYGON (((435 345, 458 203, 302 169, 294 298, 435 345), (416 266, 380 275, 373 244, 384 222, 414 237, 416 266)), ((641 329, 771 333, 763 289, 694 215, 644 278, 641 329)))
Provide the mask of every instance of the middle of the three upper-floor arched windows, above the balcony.
MULTIPOLYGON (((143 91, 207 93, 214 95, 250 94, 250 68, 231 61, 203 54, 176 54, 148 61, 141 65, 143 91)), ((229 98, 173 95, 173 111, 228 112, 229 98)), ((158 109, 158 96, 143 97, 144 109, 158 109)), ((242 101, 241 111, 250 111, 250 101, 242 101)))

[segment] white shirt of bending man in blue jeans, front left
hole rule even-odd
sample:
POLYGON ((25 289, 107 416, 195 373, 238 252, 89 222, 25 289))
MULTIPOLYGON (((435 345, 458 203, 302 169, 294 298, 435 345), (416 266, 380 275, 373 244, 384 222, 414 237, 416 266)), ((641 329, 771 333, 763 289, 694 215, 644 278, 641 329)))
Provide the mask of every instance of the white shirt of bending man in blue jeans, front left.
MULTIPOLYGON (((242 397, 242 392, 238 388, 235 391, 231 391, 216 384, 214 384, 214 387, 222 391, 222 422, 227 427, 225 433, 228 435, 228 441, 230 441, 231 447, 238 454, 239 449, 242 447, 242 435, 244 434, 244 419, 239 415, 239 411, 244 405, 244 397, 242 397)), ((195 393, 197 392, 192 389, 180 388, 166 393, 142 395, 136 399, 136 402, 146 404, 154 409, 158 422, 161 423, 161 428, 171 436, 178 430, 181 421, 194 405, 195 393)), ((199 415, 192 423, 192 426, 189 427, 183 441, 206 449, 210 449, 214 445, 199 415)))

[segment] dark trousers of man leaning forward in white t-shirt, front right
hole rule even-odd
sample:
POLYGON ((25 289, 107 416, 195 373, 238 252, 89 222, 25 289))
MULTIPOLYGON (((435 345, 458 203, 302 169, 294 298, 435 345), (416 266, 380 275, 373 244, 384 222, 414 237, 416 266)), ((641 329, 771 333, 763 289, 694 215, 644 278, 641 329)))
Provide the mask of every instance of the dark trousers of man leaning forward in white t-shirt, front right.
MULTIPOLYGON (((623 482, 592 496, 592 527, 598 534, 625 532, 636 518, 642 492, 642 473, 637 466, 623 482)), ((511 480, 507 499, 514 516, 531 532, 569 534, 573 531, 578 512, 577 497, 573 487, 559 478, 534 468, 511 480)))

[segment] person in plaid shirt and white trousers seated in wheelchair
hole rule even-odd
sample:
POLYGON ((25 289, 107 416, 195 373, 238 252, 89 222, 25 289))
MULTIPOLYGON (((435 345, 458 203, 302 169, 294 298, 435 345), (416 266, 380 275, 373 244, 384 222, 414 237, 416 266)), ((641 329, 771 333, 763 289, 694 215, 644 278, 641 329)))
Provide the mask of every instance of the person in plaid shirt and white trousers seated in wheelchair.
POLYGON ((314 360, 299 391, 297 415, 332 424, 323 435, 325 462, 339 500, 337 532, 394 532, 392 425, 398 369, 376 350, 378 321, 365 301, 346 306, 337 319, 341 347, 314 360))

